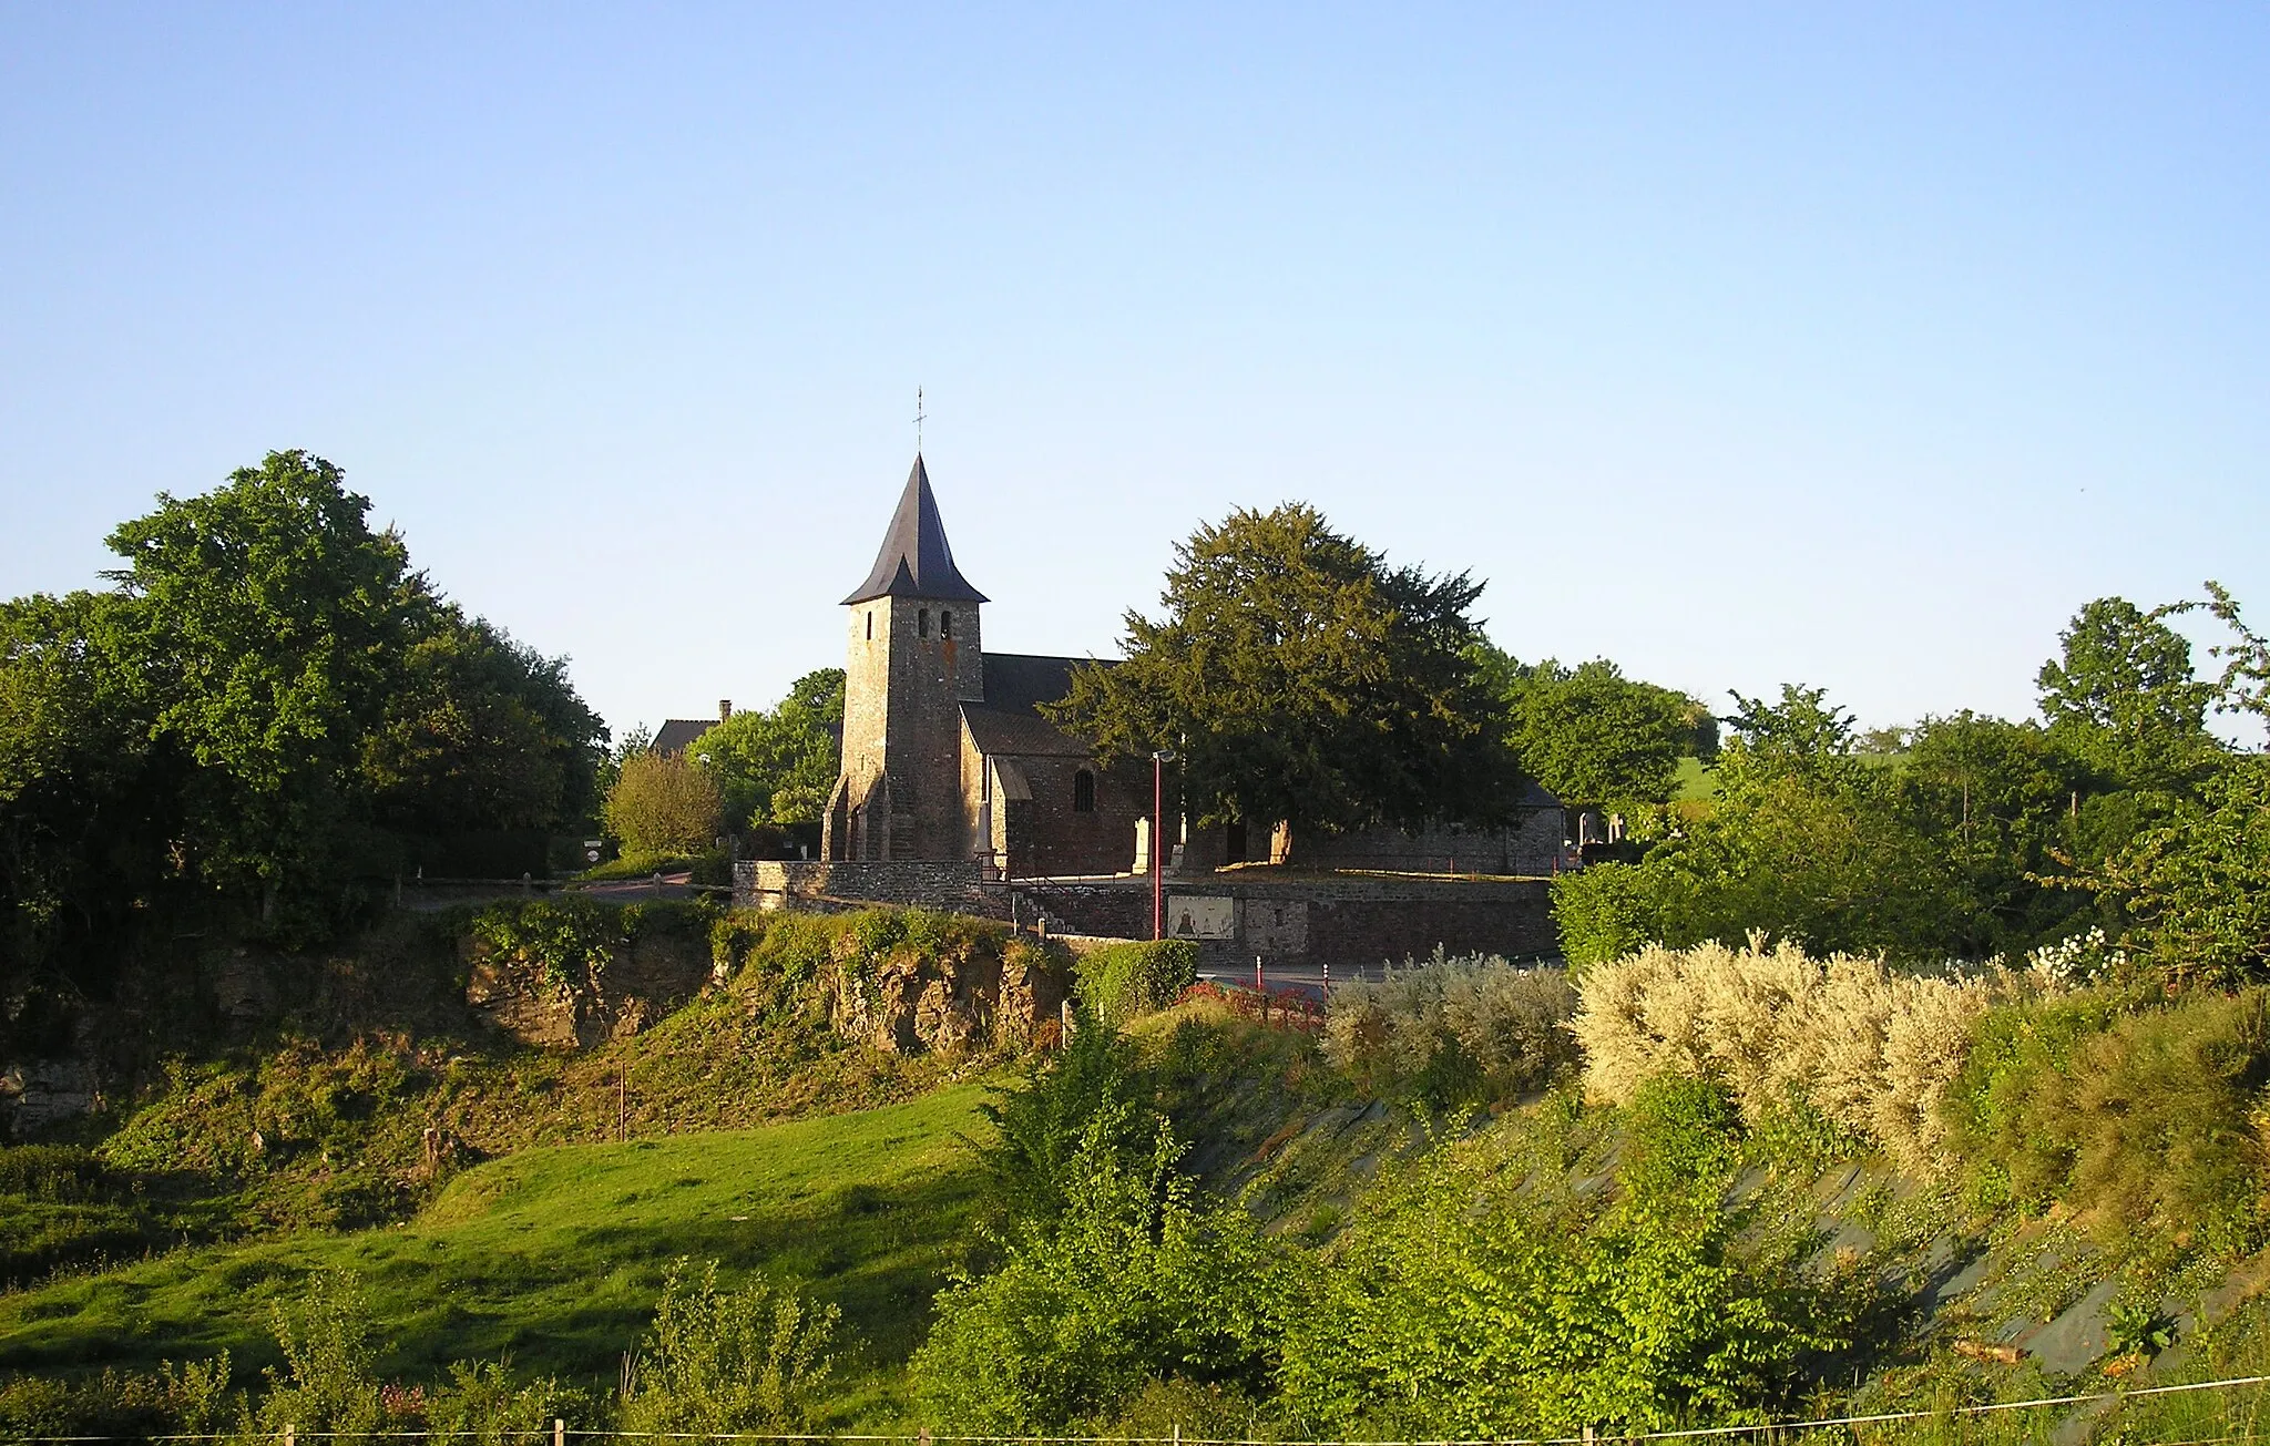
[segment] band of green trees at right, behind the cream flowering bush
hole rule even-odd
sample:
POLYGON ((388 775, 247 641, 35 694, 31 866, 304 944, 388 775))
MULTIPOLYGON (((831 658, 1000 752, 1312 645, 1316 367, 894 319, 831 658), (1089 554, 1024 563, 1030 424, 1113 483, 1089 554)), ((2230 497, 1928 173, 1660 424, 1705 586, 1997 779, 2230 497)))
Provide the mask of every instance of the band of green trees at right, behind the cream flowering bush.
POLYGON ((1564 949, 1750 931, 1907 960, 2016 956, 2088 928, 2175 976, 2270 958, 2270 760, 2218 740, 2211 711, 2270 717, 2270 647, 2209 597, 2082 608, 2041 667, 2043 722, 1927 717, 1861 738, 1818 688, 1737 699, 1714 799, 1637 815, 1637 865, 1555 885, 1564 949), (2195 674, 2181 613, 2227 627, 2195 674))

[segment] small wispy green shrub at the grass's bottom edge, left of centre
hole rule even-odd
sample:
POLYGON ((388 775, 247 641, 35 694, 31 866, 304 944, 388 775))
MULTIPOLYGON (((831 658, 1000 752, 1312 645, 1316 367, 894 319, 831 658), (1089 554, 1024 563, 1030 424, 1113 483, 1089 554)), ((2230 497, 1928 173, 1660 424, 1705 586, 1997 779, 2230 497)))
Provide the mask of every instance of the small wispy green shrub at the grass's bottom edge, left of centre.
POLYGON ((633 1362, 622 1428, 804 1430, 840 1319, 765 1278, 722 1292, 715 1260, 695 1273, 679 1258, 633 1362))

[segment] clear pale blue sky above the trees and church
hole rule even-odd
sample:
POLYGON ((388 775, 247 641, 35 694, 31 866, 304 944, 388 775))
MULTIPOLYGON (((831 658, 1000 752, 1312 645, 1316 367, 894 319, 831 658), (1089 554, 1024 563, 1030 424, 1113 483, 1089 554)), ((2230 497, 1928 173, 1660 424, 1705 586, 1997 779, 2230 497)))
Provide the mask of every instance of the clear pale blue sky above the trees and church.
POLYGON ((926 452, 1008 651, 1308 499, 1521 658, 2023 715, 2270 620, 2270 9, 0 5, 0 590, 270 447, 617 726, 926 452))

